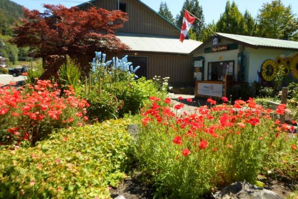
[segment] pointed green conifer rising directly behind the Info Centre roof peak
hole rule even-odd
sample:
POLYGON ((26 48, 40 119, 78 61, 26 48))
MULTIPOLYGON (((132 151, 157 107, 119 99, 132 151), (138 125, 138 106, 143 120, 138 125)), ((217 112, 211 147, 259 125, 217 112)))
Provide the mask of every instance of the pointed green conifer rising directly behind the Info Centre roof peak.
POLYGON ((219 32, 245 35, 248 32, 246 20, 236 3, 226 2, 224 13, 216 24, 219 32))

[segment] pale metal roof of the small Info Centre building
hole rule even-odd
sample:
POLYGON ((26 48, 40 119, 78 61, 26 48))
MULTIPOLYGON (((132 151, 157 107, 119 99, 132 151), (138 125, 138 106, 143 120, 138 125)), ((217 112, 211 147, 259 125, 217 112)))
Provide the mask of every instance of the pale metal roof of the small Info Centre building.
POLYGON ((226 39, 232 39, 234 41, 239 41, 244 44, 255 46, 256 48, 267 47, 267 48, 298 49, 297 41, 269 39, 269 38, 263 38, 263 37, 252 37, 252 36, 218 33, 218 32, 216 34, 226 39))

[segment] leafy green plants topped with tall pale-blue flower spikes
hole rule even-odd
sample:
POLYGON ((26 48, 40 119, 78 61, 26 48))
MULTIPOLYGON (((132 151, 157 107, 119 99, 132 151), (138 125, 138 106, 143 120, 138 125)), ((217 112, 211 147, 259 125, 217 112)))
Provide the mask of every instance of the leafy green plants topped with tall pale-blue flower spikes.
POLYGON ((127 57, 104 63, 105 55, 101 59, 101 53, 96 54, 100 56, 91 64, 90 95, 86 97, 91 105, 87 110, 89 118, 102 121, 127 113, 137 114, 149 101, 149 96, 164 98, 167 95, 168 78, 163 84, 146 78, 135 79, 133 70, 128 67, 132 63, 127 62, 127 57))

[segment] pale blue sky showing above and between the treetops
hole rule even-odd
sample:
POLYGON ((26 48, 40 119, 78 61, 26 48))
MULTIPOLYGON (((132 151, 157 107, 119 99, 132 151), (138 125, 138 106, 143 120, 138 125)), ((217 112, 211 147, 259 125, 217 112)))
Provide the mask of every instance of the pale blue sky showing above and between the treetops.
MULTIPOLYGON (((13 0, 29 9, 39 9, 43 10, 43 3, 50 4, 64 4, 67 7, 80 4, 86 0, 13 0)), ((142 0, 147 5, 149 5, 154 10, 158 11, 159 4, 161 0, 142 0)), ((164 1, 164 0, 163 0, 164 1)), ((258 9, 264 2, 270 2, 271 0, 235 0, 241 12, 244 12, 245 9, 248 9, 253 16, 257 15, 258 9)), ((296 15, 298 15, 298 0, 282 0, 284 4, 292 5, 292 9, 296 15)), ((184 0, 166 0, 167 4, 170 7, 171 12, 174 17, 180 11, 184 0)), ((212 20, 217 21, 224 11, 224 6, 226 0, 199 0, 200 4, 203 6, 203 11, 205 15, 205 20, 207 23, 212 22, 212 20)))

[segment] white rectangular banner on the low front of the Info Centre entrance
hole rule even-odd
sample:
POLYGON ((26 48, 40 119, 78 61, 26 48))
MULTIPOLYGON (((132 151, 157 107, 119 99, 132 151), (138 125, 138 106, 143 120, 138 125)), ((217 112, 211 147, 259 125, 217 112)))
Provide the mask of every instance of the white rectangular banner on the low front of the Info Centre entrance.
POLYGON ((199 83, 198 95, 223 97, 223 84, 199 83))

